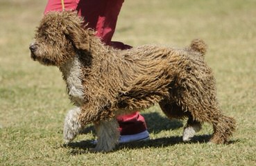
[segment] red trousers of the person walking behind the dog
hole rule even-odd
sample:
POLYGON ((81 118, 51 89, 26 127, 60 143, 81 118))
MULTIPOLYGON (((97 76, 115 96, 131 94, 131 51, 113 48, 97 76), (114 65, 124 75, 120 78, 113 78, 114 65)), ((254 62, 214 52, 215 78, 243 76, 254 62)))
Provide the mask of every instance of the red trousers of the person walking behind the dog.
MULTIPOLYGON (((131 46, 122 42, 112 42, 112 36, 117 25, 117 17, 123 0, 64 0, 65 10, 76 10, 85 20, 89 28, 96 30, 96 36, 109 46, 128 49, 131 46)), ((61 0, 49 0, 44 14, 49 11, 61 11, 61 0)), ((138 112, 126 116, 119 116, 119 130, 121 135, 140 133, 146 130, 144 117, 138 112)))

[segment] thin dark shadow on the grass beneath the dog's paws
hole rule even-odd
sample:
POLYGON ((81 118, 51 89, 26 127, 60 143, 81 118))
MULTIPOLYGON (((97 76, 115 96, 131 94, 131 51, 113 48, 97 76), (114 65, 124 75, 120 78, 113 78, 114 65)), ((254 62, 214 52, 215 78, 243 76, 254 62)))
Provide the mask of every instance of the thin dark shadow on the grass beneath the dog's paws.
MULTIPOLYGON (((187 142, 191 143, 205 143, 210 140, 211 135, 201 135, 194 136, 194 138, 187 142)), ((147 140, 144 142, 129 142, 129 143, 121 143, 117 146, 114 151, 119 151, 122 149, 141 149, 141 148, 150 148, 150 147, 169 147, 171 145, 177 144, 186 144, 182 141, 182 136, 171 136, 167 138, 156 138, 154 140, 147 140)), ((89 153, 89 149, 94 148, 95 145, 92 144, 92 140, 83 140, 80 142, 71 142, 67 145, 63 145, 63 147, 70 148, 71 155, 79 155, 79 154, 87 154, 89 153)))

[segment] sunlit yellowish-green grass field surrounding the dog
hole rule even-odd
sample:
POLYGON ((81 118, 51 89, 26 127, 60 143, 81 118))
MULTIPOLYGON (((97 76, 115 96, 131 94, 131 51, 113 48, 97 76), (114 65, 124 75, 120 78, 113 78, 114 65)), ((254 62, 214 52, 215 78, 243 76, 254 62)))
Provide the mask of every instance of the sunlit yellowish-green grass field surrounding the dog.
POLYGON ((128 0, 114 40, 132 46, 187 46, 207 42, 205 57, 218 98, 237 131, 228 145, 207 144, 210 124, 191 143, 185 122, 168 120, 155 106, 142 112, 148 142, 120 145, 108 154, 88 151, 92 126, 67 146, 62 125, 71 104, 58 68, 30 58, 28 46, 46 1, 0 1, 0 165, 256 165, 256 1, 128 0))

